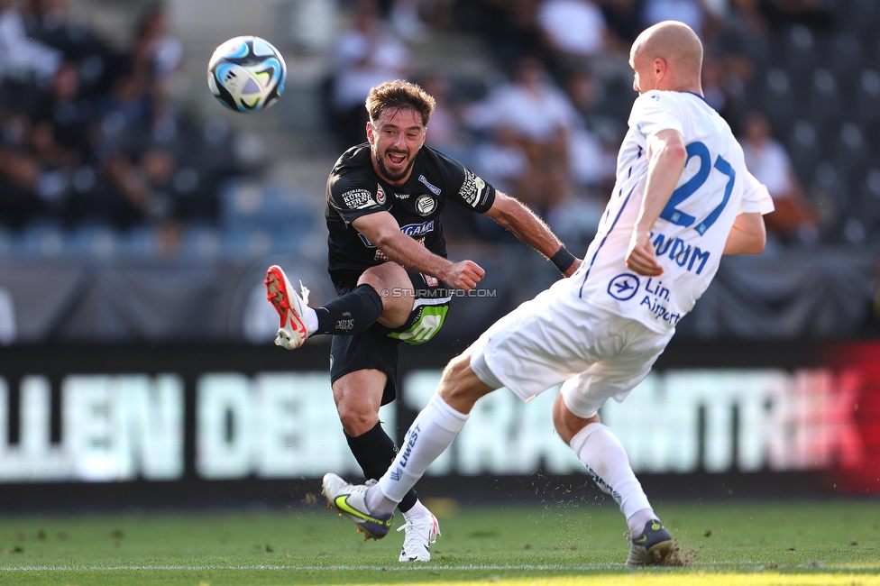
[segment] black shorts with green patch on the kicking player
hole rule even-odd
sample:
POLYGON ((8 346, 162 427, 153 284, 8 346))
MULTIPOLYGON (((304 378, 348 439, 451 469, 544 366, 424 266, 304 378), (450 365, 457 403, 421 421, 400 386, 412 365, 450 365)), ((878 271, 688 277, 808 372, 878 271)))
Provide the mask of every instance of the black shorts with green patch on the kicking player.
POLYGON ((442 280, 407 270, 416 292, 412 313, 407 323, 390 329, 379 322, 361 334, 335 335, 330 342, 330 383, 354 371, 375 369, 388 376, 382 393, 382 405, 397 397, 398 346, 426 343, 440 328, 449 309, 450 289, 442 280))

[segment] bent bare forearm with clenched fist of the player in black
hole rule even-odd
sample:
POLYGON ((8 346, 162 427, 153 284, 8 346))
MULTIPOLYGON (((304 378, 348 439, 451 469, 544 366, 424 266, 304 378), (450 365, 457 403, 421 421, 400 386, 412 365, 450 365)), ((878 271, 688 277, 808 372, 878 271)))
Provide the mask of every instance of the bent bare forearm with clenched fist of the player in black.
POLYGON ((452 262, 428 251, 405 233, 393 215, 388 212, 362 215, 356 218, 354 229, 376 244, 381 252, 404 269, 417 270, 444 280, 450 287, 470 291, 486 275, 473 261, 452 262))

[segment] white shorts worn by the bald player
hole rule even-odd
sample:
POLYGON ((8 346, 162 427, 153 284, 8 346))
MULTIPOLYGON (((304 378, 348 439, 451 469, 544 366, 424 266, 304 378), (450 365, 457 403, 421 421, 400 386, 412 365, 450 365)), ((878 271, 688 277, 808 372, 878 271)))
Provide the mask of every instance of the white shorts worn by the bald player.
POLYGON ((609 398, 627 398, 675 330, 658 334, 592 306, 574 285, 572 279, 556 281, 472 343, 471 370, 480 380, 524 401, 564 382, 565 406, 584 418, 609 398))

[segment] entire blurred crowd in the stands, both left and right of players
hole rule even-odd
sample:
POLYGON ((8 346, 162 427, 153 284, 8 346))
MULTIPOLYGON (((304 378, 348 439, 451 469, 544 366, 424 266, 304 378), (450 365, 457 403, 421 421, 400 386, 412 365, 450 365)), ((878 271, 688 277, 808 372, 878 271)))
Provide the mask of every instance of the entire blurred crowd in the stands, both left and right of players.
MULTIPOLYGON (((363 142, 368 89, 417 81, 437 100, 428 144, 526 202, 566 242, 586 243, 636 96, 629 47, 646 26, 681 20, 706 47, 706 100, 775 198, 774 243, 865 242, 880 228, 870 211, 880 199, 870 126, 880 76, 863 68, 875 57, 866 14, 880 24, 876 4, 340 0, 350 18, 327 56, 327 131, 334 154, 363 142), (417 51, 443 37, 471 39, 488 67, 418 70, 417 51)), ((119 49, 71 18, 67 0, 0 0, 0 222, 216 222, 218 186, 259 169, 225 124, 199 122, 170 98, 183 49, 169 30, 153 5, 119 49)), ((481 220, 456 214, 447 232, 509 237, 481 220)))

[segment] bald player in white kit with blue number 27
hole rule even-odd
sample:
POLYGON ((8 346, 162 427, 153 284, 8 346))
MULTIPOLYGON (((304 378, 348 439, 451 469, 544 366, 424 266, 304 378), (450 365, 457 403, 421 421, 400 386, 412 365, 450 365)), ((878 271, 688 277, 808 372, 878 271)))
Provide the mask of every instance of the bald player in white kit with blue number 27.
POLYGON ((367 536, 388 532, 399 499, 452 443, 477 399, 507 387, 527 401, 562 382, 555 428, 627 517, 627 563, 665 563, 673 554, 672 536, 599 409, 646 377, 722 254, 764 250, 762 215, 773 203, 747 171, 728 124, 702 97, 702 44, 687 25, 667 21, 642 32, 629 61, 639 96, 614 192, 580 268, 447 365, 378 483, 325 475, 330 506, 367 536))

